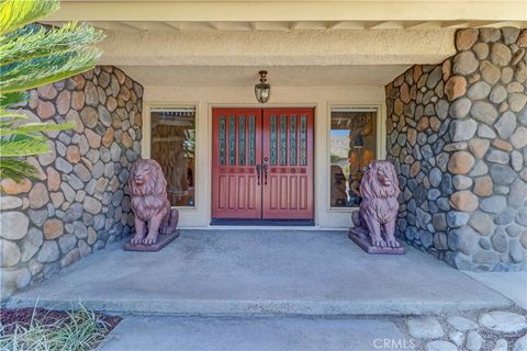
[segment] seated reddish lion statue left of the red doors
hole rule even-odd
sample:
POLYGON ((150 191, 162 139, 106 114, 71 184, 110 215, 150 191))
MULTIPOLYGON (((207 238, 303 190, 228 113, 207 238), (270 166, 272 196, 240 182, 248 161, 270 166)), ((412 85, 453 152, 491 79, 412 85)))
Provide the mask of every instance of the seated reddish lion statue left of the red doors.
POLYGON ((167 180, 157 161, 137 160, 132 167, 128 189, 135 215, 132 245, 153 245, 157 242, 159 234, 171 234, 176 230, 178 212, 170 208, 167 180))

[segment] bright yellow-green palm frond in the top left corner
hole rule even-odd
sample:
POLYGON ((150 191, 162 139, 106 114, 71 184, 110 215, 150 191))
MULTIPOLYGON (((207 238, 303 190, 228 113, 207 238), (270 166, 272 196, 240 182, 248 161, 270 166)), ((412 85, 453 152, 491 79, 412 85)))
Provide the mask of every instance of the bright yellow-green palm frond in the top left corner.
POLYGON ((2 0, 0 2, 0 35, 36 22, 60 7, 58 0, 2 0))

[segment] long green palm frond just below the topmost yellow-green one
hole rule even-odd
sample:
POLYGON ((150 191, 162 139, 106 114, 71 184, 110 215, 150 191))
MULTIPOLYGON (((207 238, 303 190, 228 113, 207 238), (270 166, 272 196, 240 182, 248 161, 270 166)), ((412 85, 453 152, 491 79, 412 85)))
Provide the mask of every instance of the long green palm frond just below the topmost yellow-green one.
POLYGON ((101 31, 75 22, 53 29, 27 25, 0 38, 0 65, 77 52, 103 38, 101 31))

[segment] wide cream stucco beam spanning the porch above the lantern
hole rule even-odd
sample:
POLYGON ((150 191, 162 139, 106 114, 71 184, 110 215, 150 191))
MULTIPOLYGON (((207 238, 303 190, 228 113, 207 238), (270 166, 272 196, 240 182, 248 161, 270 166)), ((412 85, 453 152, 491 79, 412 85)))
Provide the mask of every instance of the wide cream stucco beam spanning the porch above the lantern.
MULTIPOLYGON (((290 15, 291 13, 288 13, 290 15)), ((452 29, 374 31, 111 31, 104 64, 126 66, 340 66, 437 63, 455 54, 452 29), (434 37, 434 41, 430 41, 434 37)), ((272 70, 270 70, 272 72, 272 70)), ((271 76, 272 77, 272 76, 271 76)), ((301 78, 299 77, 301 80, 301 78)), ((177 82, 175 82, 177 84, 177 82)))

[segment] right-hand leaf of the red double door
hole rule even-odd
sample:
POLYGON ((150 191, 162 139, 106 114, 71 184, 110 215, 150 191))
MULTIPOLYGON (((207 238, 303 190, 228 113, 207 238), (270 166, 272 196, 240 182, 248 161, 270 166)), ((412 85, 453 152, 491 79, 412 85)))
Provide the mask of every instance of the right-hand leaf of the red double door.
POLYGON ((262 218, 313 218, 313 110, 265 109, 262 218))

